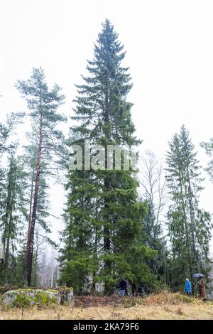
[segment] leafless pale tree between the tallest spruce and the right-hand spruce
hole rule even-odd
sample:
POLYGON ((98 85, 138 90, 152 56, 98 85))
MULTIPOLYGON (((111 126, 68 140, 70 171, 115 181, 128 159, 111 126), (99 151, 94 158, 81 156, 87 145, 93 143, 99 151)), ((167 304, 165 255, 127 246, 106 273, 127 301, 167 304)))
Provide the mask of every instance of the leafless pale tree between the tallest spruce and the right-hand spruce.
POLYGON ((151 259, 153 272, 168 284, 169 259, 165 229, 165 207, 168 204, 168 189, 165 184, 165 169, 155 154, 146 151, 140 163, 140 183, 143 200, 148 204, 148 215, 143 219, 143 242, 158 255, 151 259))

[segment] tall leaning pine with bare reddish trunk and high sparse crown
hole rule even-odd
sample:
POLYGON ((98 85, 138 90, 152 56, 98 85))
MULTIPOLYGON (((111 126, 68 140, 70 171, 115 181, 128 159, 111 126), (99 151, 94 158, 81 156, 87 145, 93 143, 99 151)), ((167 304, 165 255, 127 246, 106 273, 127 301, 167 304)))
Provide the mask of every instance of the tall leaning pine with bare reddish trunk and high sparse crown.
POLYGON ((58 114, 57 109, 63 102, 64 96, 60 95, 60 87, 54 85, 52 90, 45 83, 45 75, 41 68, 33 68, 30 79, 19 80, 16 87, 26 97, 28 109, 37 136, 37 157, 35 166, 35 187, 32 198, 31 218, 28 227, 28 240, 26 248, 25 284, 31 285, 31 272, 33 264, 33 244, 35 222, 38 214, 38 200, 40 194, 40 180, 43 173, 43 163, 49 173, 53 164, 57 164, 62 143, 62 132, 57 129, 59 122, 65 117, 58 114))

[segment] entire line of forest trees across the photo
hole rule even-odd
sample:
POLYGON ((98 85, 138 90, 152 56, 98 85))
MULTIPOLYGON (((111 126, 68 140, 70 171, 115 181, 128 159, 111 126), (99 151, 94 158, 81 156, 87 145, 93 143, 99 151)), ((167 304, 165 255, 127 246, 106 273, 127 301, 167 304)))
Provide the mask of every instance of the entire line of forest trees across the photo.
MULTIPOLYGON (((76 85, 71 118, 62 114, 65 97, 58 85, 48 87, 43 69, 33 68, 28 80, 16 82, 28 112, 11 113, 0 123, 1 285, 42 285, 48 244, 59 252, 58 283, 79 293, 95 291, 97 284, 113 293, 122 277, 148 291, 165 285, 177 291, 195 272, 208 278, 211 214, 200 208, 202 166, 185 126, 170 139, 165 166, 148 152, 138 160, 138 172, 67 167, 70 146, 84 152, 85 140, 104 148, 141 144, 127 101, 132 82, 124 57, 106 20, 87 76, 76 85), (16 129, 25 122, 31 123, 28 144, 18 154, 16 129), (62 131, 66 122, 68 136, 62 131), (67 194, 60 246, 50 238, 53 181, 67 194)), ((201 146, 212 156, 213 139, 201 146)), ((207 171, 212 178, 211 160, 207 171)))

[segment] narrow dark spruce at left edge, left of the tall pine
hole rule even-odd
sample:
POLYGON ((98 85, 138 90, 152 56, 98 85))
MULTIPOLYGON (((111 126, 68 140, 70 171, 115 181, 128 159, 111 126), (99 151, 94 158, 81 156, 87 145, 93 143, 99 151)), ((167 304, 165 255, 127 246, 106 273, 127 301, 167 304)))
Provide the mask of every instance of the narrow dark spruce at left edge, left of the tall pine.
POLYGON ((16 248, 21 239, 21 230, 23 230, 23 221, 26 216, 25 188, 26 173, 23 171, 23 164, 15 158, 12 151, 5 171, 0 203, 0 231, 4 249, 1 281, 4 284, 15 283, 13 267, 16 266, 16 248))

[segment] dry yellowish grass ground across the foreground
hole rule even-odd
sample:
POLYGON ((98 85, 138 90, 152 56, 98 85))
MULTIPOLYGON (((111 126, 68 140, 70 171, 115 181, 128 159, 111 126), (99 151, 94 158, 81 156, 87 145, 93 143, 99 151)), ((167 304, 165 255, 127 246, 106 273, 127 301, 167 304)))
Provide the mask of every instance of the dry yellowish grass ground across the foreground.
POLYGON ((147 298, 75 296, 72 306, 33 306, 9 308, 0 306, 0 320, 154 320, 212 319, 213 303, 180 293, 162 291, 147 298))

